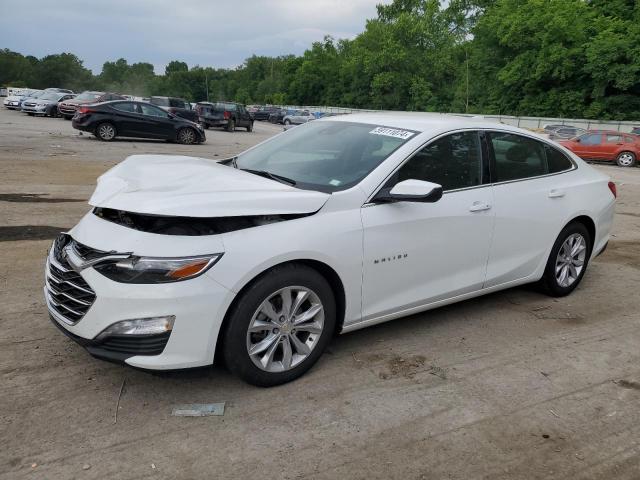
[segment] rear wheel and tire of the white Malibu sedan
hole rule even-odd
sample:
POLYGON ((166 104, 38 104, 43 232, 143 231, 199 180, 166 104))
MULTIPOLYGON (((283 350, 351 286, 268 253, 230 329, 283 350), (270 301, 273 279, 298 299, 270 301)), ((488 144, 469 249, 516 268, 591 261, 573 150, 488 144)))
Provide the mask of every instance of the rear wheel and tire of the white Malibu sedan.
POLYGON ((560 232, 540 281, 549 295, 564 297, 580 284, 591 257, 591 242, 589 231, 579 222, 570 223, 560 232))

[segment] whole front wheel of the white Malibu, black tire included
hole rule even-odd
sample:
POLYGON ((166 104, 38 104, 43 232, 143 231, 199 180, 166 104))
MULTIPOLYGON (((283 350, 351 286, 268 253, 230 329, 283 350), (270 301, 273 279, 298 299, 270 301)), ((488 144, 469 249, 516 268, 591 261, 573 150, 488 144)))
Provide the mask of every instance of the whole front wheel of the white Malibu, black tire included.
POLYGON ((275 267, 250 284, 230 312, 225 362, 252 385, 290 382, 318 361, 335 322, 335 299, 322 275, 305 265, 275 267))

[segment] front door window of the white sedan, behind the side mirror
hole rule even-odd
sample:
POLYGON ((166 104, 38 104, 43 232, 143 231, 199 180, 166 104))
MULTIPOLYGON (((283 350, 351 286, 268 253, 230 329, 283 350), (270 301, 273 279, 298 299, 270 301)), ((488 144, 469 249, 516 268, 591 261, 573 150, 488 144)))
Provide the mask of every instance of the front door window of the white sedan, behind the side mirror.
POLYGON ((425 180, 445 191, 475 187, 482 183, 481 159, 478 132, 454 133, 420 150, 398 170, 395 180, 425 180))

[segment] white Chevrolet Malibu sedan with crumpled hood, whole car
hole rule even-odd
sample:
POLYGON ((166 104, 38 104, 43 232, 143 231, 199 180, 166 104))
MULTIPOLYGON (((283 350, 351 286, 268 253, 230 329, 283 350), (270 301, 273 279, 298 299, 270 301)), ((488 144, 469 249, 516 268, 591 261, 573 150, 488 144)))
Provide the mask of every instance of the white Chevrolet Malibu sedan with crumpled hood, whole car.
POLYGON ((219 162, 129 157, 54 242, 44 293, 96 357, 152 370, 221 358, 271 386, 334 333, 526 283, 571 293, 607 245, 615 196, 517 128, 330 117, 219 162))

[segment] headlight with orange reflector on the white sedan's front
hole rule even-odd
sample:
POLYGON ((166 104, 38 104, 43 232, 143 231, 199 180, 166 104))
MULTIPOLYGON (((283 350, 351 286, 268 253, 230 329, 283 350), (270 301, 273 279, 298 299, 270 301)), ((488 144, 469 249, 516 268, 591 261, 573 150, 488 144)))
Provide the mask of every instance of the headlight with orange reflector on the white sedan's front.
POLYGON ((179 282, 202 275, 222 257, 221 253, 182 258, 131 256, 124 260, 105 261, 93 268, 121 283, 179 282))

